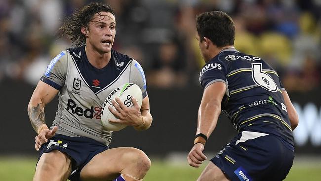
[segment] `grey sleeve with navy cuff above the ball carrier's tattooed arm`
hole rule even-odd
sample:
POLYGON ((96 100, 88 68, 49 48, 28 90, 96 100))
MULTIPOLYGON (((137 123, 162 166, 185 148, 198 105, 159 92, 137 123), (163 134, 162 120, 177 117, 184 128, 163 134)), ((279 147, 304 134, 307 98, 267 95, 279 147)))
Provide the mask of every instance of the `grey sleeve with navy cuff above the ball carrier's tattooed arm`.
POLYGON ((62 51, 51 60, 41 77, 41 81, 49 84, 53 88, 60 90, 65 85, 67 75, 67 52, 62 51))

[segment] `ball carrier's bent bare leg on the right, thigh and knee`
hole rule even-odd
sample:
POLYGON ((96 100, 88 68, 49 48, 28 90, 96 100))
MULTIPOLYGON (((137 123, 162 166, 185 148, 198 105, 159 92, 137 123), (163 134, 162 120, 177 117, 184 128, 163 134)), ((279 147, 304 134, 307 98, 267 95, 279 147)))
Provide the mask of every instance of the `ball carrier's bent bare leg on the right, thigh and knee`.
POLYGON ((137 170, 147 172, 149 167, 150 160, 143 151, 130 147, 112 148, 95 155, 81 170, 80 178, 113 179, 120 174, 136 175, 137 170))

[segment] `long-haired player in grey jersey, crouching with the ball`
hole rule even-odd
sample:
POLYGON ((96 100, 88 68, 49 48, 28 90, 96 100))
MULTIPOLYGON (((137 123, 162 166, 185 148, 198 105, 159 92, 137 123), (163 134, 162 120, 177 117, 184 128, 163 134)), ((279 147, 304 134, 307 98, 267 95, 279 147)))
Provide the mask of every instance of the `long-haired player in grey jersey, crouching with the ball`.
POLYGON ((112 49, 116 19, 108 5, 91 3, 61 27, 76 46, 62 51, 48 66, 28 105, 35 149, 40 151, 33 181, 141 181, 150 159, 136 148, 109 149, 112 131, 101 122, 106 97, 125 83, 139 86, 142 105, 131 97, 129 108, 115 98, 110 122, 146 130, 152 123, 146 80, 139 63, 112 49), (53 125, 44 108, 58 94, 53 125))

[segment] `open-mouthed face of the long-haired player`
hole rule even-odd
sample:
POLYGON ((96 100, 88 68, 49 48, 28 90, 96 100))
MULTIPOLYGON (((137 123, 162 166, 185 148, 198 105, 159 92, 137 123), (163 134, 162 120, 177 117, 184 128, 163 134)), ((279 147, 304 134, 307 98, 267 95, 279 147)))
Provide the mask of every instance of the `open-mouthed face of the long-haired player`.
POLYGON ((115 16, 110 12, 96 13, 89 23, 88 43, 99 53, 111 51, 116 35, 115 16))

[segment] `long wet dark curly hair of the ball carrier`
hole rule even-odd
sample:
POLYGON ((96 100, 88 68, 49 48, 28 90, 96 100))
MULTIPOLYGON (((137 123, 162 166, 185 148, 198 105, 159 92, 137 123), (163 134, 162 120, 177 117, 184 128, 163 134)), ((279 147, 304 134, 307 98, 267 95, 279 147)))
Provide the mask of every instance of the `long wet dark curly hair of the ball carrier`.
POLYGON ((76 10, 71 16, 67 17, 59 28, 61 36, 67 35, 74 46, 86 45, 86 37, 81 33, 81 27, 88 28, 94 15, 100 12, 110 12, 115 16, 113 9, 109 5, 101 3, 90 3, 80 10, 76 10))

